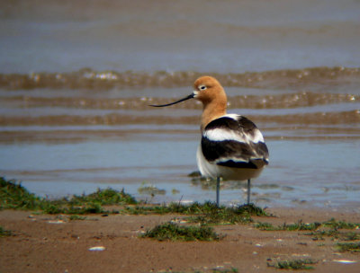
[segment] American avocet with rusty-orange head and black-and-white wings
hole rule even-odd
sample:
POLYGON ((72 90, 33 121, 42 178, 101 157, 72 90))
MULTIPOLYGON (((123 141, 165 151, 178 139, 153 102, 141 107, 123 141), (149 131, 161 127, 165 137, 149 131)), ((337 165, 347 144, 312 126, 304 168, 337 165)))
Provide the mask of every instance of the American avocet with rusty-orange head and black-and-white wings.
POLYGON ((196 159, 202 176, 216 179, 216 203, 219 206, 220 179, 247 180, 247 205, 250 182, 268 164, 269 153, 257 126, 238 114, 227 114, 227 97, 221 84, 211 76, 202 76, 193 84, 194 91, 184 99, 164 107, 195 99, 202 101, 202 141, 196 159))

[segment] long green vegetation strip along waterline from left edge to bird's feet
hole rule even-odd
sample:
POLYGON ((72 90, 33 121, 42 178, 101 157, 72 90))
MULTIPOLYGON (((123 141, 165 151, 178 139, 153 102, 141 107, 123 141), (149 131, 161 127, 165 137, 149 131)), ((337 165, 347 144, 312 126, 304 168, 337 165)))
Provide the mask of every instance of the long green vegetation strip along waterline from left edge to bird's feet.
POLYGON ((250 223, 252 222, 251 216, 267 216, 264 209, 252 204, 239 207, 218 207, 212 202, 203 204, 194 202, 188 205, 170 203, 161 206, 139 204, 123 189, 121 191, 97 189, 96 192, 88 195, 50 200, 35 196, 16 181, 6 181, 4 178, 0 178, 0 209, 5 208, 36 210, 53 215, 74 215, 73 219, 76 217, 79 219, 80 215, 85 214, 164 215, 172 213, 189 216, 187 219, 189 222, 202 225, 250 223), (103 206, 119 205, 121 207, 116 207, 118 210, 108 211, 103 208, 103 206))

